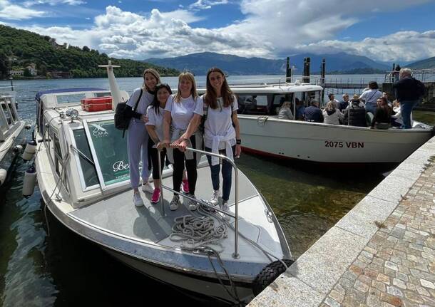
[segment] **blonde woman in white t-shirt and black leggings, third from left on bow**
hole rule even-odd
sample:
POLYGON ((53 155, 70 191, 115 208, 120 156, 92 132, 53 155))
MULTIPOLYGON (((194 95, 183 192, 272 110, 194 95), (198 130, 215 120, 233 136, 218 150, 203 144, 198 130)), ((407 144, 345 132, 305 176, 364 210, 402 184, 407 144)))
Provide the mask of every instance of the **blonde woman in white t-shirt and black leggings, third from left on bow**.
MULTIPOLYGON (((203 138, 198 133, 198 125, 203 116, 203 99, 196 92, 195 78, 192 73, 180 73, 178 76, 178 93, 170 95, 163 115, 164 140, 158 147, 168 147, 168 160, 173 163, 173 189, 180 192, 184 165, 188 172, 189 193, 195 199, 195 186, 198 173, 197 162, 200 155, 185 151, 186 147, 200 149, 203 138)), ((178 209, 180 196, 174 193, 170 209, 178 209)), ((197 202, 190 199, 188 208, 195 210, 197 202)))

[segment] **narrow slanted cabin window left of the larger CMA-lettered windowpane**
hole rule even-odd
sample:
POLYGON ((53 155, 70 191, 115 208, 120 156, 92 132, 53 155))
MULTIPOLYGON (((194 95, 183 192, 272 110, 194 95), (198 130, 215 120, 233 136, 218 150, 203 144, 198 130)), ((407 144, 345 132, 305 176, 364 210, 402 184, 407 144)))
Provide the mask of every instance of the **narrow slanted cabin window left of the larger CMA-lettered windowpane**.
POLYGON ((95 166, 93 165, 93 157, 91 154, 91 147, 89 147, 86 132, 83 128, 73 130, 74 140, 76 147, 84 155, 78 155, 78 165, 81 169, 81 179, 83 182, 83 189, 92 187, 98 184, 98 175, 95 166))

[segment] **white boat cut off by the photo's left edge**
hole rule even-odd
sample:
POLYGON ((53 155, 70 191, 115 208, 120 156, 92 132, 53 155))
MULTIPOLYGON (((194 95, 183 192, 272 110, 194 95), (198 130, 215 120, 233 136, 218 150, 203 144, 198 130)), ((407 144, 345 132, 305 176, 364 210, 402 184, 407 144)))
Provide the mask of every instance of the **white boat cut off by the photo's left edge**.
POLYGON ((21 151, 26 124, 20 120, 16 110, 14 92, 0 89, 0 185, 8 177, 8 171, 16 155, 21 151))

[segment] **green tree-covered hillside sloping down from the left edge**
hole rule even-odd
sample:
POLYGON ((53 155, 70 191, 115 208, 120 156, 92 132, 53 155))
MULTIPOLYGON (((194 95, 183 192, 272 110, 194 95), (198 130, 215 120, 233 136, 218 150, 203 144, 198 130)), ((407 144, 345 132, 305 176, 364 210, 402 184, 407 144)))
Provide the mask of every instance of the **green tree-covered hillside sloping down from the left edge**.
POLYGON ((51 76, 53 71, 70 73, 73 78, 106 77, 106 70, 98 65, 107 64, 108 60, 121 66, 116 69, 118 77, 142 76, 145 68, 155 68, 162 76, 175 76, 178 71, 163 68, 150 63, 133 60, 109 58, 106 53, 99 53, 84 46, 58 45, 49 36, 0 25, 0 78, 8 76, 9 70, 26 68, 36 64, 39 76, 51 76))

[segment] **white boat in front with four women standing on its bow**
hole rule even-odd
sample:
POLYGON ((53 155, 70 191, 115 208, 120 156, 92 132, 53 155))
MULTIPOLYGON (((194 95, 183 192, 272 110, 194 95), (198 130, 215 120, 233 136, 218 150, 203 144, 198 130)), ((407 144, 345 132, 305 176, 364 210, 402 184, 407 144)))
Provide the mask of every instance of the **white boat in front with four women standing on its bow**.
MULTIPOLYGON (((66 227, 153 279, 220 300, 250 301, 272 276, 285 270, 278 260, 292 259, 272 209, 240 171, 233 177, 229 201, 235 219, 228 224, 222 222, 219 212, 189 212, 185 197, 181 197, 183 204, 178 210, 168 210, 172 199, 168 191, 163 193, 163 206, 151 205, 147 194, 145 207, 135 207, 126 138, 114 127, 113 110, 89 112, 80 104, 82 98, 109 94, 128 98, 126 92, 116 90, 112 66, 108 66, 108 75, 112 93, 69 89, 36 97, 40 147, 35 164, 46 207, 66 227), (171 236, 175 219, 190 214, 204 215, 215 223, 215 229, 225 225, 226 237, 212 245, 176 241, 177 237, 171 236)), ((172 187, 171 174, 170 168, 163 170, 166 187, 172 187)), ((210 170, 203 159, 196 196, 208 199, 210 192, 210 170)))

